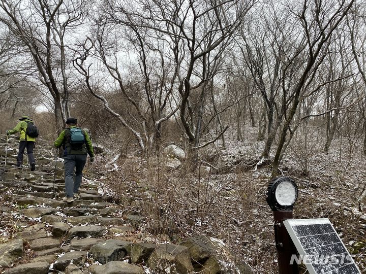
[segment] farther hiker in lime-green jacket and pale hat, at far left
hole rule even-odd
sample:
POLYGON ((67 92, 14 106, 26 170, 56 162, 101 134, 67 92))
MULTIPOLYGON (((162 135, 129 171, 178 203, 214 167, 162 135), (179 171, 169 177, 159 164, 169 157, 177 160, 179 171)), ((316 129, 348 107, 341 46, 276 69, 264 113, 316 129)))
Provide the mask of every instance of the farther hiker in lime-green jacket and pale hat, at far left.
POLYGON ((16 167, 21 168, 23 164, 23 154, 24 149, 27 149, 27 155, 28 155, 28 162, 31 164, 31 170, 36 169, 36 160, 33 156, 33 148, 36 144, 36 138, 29 136, 25 133, 28 123, 33 124, 33 120, 31 117, 27 115, 23 115, 19 118, 20 122, 13 128, 6 131, 7 135, 15 134, 17 132, 20 132, 19 136, 19 151, 18 151, 18 157, 16 162, 16 167))

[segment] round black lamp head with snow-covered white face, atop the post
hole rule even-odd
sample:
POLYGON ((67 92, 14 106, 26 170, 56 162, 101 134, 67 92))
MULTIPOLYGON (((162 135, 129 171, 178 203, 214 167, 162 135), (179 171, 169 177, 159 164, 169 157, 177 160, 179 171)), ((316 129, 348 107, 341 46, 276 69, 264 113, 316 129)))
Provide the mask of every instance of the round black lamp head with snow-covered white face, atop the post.
POLYGON ((267 203, 272 211, 292 211, 297 195, 297 186, 292 179, 277 177, 269 182, 267 203))

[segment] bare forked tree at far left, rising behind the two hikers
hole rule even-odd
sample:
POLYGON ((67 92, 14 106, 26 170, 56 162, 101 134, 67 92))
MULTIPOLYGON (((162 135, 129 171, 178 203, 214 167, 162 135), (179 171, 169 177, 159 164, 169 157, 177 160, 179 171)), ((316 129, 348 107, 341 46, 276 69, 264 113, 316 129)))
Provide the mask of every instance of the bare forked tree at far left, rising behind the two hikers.
POLYGON ((51 94, 54 104, 56 127, 64 125, 70 116, 68 107, 68 65, 72 52, 67 54, 74 31, 84 20, 91 3, 89 1, 36 1, 2 0, 0 22, 27 47, 37 70, 37 79, 51 94), (68 37, 67 37, 68 36, 68 37), (61 80, 59 80, 61 79, 61 80))

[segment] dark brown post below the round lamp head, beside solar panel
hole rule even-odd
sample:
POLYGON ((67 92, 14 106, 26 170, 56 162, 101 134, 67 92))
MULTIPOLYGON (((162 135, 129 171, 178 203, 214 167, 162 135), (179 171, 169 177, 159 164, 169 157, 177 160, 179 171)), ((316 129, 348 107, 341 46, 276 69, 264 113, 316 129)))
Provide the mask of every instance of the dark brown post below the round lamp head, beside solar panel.
POLYGON ((294 260, 290 264, 292 255, 296 255, 296 248, 288 234, 283 221, 292 219, 292 211, 273 211, 275 221, 275 239, 280 274, 299 274, 299 267, 294 260))

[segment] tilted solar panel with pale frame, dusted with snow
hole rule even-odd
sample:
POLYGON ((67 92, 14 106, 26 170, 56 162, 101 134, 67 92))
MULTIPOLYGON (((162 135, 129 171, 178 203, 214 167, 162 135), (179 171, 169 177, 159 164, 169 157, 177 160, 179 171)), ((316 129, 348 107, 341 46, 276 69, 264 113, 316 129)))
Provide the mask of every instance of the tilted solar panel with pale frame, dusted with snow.
MULTIPOLYGON (((309 274, 360 274, 329 219, 289 219, 284 225, 309 274)), ((290 262, 291 263, 291 262, 290 262)))

